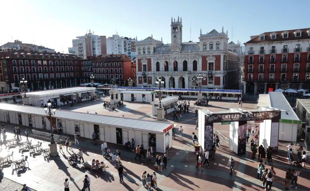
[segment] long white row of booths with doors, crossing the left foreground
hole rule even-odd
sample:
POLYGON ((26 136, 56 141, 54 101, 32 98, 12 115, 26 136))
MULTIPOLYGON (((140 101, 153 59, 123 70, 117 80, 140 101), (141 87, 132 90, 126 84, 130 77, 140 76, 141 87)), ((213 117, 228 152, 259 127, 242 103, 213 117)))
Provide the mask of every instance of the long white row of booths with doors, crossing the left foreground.
POLYGON ((43 108, 4 103, 0 103, 0 121, 47 130, 52 124, 53 128, 62 127, 66 134, 78 133, 89 139, 96 132, 99 140, 119 145, 134 138, 136 144, 143 143, 145 148, 153 146, 159 153, 172 147, 173 124, 164 122, 56 110, 50 123, 43 108))

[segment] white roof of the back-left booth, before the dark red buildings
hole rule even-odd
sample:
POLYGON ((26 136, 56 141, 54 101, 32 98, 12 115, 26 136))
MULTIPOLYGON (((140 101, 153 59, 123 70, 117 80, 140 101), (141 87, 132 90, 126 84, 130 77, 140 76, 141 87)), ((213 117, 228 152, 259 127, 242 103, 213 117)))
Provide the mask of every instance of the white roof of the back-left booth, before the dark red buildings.
POLYGON ((95 87, 70 87, 70 88, 60 88, 60 89, 51 89, 44 91, 34 91, 34 92, 26 92, 27 96, 51 96, 51 95, 65 95, 70 93, 78 93, 78 92, 91 92, 95 91, 95 87))

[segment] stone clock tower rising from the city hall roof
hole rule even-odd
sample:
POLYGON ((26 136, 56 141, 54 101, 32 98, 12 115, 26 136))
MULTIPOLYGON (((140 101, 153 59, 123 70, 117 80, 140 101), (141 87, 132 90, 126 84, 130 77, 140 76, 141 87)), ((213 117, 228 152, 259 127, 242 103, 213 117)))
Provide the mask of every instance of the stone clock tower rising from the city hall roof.
POLYGON ((177 18, 177 21, 172 20, 171 17, 171 52, 181 52, 181 46, 182 46, 182 17, 179 19, 177 18))

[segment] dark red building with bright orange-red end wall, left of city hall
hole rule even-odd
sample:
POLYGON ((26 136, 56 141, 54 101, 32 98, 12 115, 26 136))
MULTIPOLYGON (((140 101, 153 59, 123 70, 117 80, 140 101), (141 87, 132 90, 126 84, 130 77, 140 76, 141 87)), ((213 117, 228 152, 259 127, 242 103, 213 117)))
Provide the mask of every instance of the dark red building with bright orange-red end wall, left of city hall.
POLYGON ((128 79, 135 74, 135 64, 125 55, 99 55, 87 57, 82 62, 83 81, 89 82, 90 76, 94 76, 94 82, 112 83, 112 78, 116 79, 116 84, 121 86, 128 85, 128 79))

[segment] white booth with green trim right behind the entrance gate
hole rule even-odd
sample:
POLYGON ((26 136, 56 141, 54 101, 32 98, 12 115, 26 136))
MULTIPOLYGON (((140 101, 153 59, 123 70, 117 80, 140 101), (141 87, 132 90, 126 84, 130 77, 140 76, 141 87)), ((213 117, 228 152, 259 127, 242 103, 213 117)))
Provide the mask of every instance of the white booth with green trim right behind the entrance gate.
POLYGON ((282 110, 279 121, 279 140, 296 142, 302 122, 293 111, 282 92, 259 94, 257 107, 273 107, 282 110))

